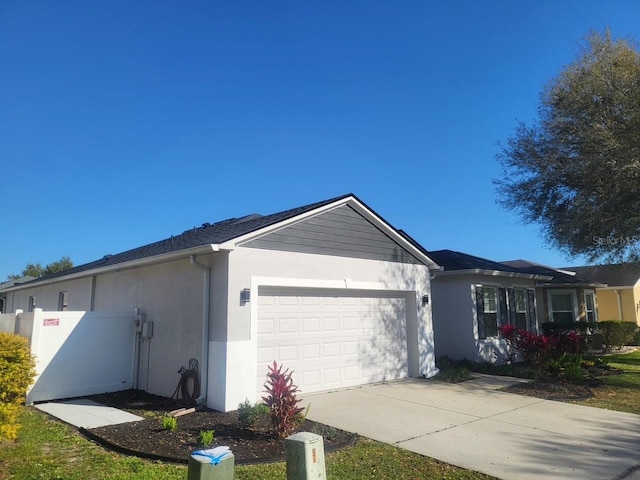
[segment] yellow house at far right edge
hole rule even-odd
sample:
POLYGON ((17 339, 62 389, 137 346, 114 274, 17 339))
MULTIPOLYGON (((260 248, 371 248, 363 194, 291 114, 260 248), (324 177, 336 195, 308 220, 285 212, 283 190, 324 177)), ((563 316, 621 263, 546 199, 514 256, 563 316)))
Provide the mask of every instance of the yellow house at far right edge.
POLYGON ((640 262, 568 267, 566 270, 607 285, 596 289, 600 320, 623 320, 640 325, 640 262))

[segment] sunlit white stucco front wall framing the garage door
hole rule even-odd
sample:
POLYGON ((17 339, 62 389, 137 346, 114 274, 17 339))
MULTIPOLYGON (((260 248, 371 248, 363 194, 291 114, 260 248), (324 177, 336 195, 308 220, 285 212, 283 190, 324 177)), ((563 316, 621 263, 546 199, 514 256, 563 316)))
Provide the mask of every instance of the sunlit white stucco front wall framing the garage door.
MULTIPOLYGON (((225 366, 225 377, 210 376, 208 402, 212 408, 224 410, 235 409, 246 398, 260 394, 255 387, 255 300, 260 285, 394 290, 405 292, 413 304, 417 303, 416 292, 431 297, 429 270, 424 265, 237 248, 229 254, 228 272, 227 336, 211 342, 211 358, 218 367, 225 366), (246 288, 251 289, 252 301, 241 305, 240 292, 246 288)), ((413 354, 410 373, 431 376, 436 373, 431 308, 427 305, 414 311, 414 319, 409 318, 408 323, 418 330, 413 335, 417 354, 413 354)))

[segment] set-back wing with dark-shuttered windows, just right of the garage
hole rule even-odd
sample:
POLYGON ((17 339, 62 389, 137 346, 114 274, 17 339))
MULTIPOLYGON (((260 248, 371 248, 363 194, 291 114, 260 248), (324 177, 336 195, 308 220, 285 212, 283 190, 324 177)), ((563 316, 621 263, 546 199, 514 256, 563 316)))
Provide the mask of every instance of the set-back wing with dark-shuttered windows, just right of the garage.
POLYGON ((443 270, 432 280, 436 355, 474 362, 502 361, 498 327, 538 331, 537 281, 551 276, 451 250, 429 251, 443 270))

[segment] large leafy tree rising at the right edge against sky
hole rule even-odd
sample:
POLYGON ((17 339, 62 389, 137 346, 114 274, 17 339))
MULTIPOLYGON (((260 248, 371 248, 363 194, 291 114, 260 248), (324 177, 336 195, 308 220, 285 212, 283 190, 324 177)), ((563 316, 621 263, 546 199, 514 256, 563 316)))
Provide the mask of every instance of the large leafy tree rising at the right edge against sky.
POLYGON ((640 245, 640 53, 592 32, 497 158, 499 202, 542 226, 549 243, 591 260, 640 245))

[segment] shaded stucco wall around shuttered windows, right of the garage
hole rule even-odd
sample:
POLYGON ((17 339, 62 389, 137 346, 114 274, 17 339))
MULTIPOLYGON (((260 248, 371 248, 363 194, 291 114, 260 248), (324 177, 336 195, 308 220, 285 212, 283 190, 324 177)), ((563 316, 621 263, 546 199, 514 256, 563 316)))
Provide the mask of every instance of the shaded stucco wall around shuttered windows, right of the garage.
POLYGON ((505 342, 478 338, 474 285, 534 288, 526 279, 489 275, 436 275, 432 280, 433 325, 437 357, 492 362, 505 356, 505 342))

